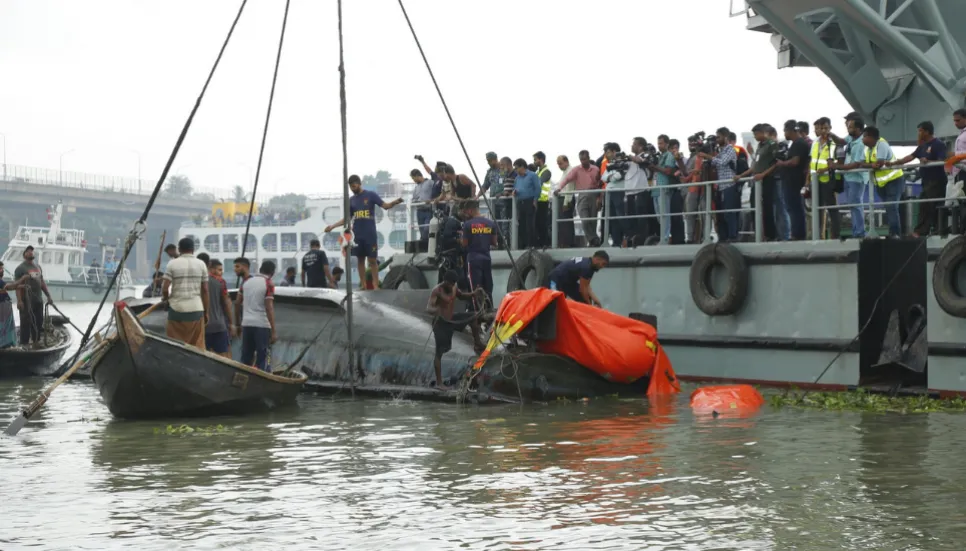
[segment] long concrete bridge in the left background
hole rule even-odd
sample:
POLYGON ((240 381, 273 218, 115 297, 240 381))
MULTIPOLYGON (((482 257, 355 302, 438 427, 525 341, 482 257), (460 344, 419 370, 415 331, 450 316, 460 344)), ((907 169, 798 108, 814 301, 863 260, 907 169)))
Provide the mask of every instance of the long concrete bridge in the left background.
MULTIPOLYGON (((144 211, 154 184, 134 178, 3 165, 0 221, 6 224, 0 223, 0 254, 18 225, 25 220, 34 224, 43 220, 46 208, 58 201, 65 207, 64 227, 84 229, 92 244, 101 239, 108 244, 123 241, 144 211)), ((182 222, 193 215, 211 213, 216 201, 231 196, 230 190, 198 187, 192 187, 187 195, 162 192, 151 209, 150 230, 135 247, 128 267, 138 276, 147 276, 163 231, 167 231, 166 240, 174 242, 182 222)), ((99 255, 96 246, 88 250, 92 256, 87 261, 99 255)))

